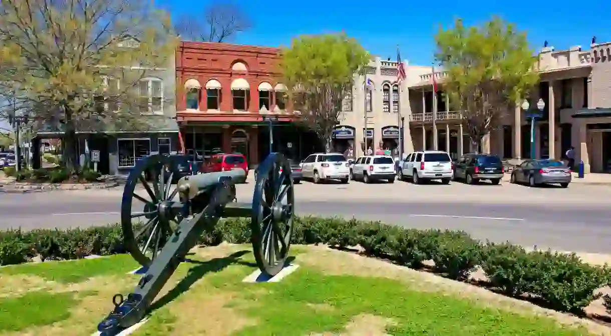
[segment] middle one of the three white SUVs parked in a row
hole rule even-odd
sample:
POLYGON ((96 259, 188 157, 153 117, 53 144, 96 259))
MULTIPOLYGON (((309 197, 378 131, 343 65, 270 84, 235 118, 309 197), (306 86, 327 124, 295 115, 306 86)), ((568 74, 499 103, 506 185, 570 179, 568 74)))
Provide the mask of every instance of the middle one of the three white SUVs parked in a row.
POLYGON ((395 161, 387 155, 361 156, 356 159, 350 171, 351 180, 371 181, 387 180, 395 182, 395 161))

